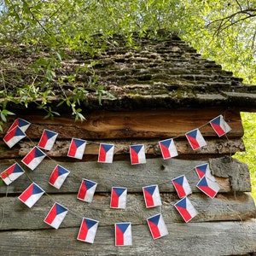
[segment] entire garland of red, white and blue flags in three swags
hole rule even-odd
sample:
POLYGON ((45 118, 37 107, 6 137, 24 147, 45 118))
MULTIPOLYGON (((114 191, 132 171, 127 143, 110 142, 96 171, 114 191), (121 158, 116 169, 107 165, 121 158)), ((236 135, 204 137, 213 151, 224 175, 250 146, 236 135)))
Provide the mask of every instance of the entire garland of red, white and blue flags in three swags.
MULTIPOLYGON (((23 136, 26 137, 26 134, 24 132, 26 131, 29 125, 30 123, 26 122, 25 120, 17 119, 15 120, 15 125, 13 125, 12 129, 9 129, 7 135, 9 135, 10 132, 13 132, 12 134, 15 135, 15 132, 19 131, 20 134, 22 134, 21 136, 22 138, 23 136), (16 124, 20 124, 20 126, 23 127, 22 130, 20 126, 16 124)), ((216 133, 218 134, 218 137, 223 136, 224 134, 226 134, 231 130, 230 126, 224 121, 224 118, 222 115, 218 116, 216 119, 212 119, 210 121, 210 125, 212 125, 212 129, 216 131, 216 133)), ((46 154, 44 154, 44 152, 39 148, 50 150, 55 143, 55 139, 58 134, 54 131, 50 131, 52 133, 49 136, 49 134, 48 135, 46 134, 46 131, 48 130, 44 130, 42 137, 40 139, 40 142, 38 143, 38 147, 35 146, 34 148, 32 148, 32 150, 28 154, 26 154, 26 156, 21 160, 22 163, 25 164, 27 167, 29 167, 31 170, 34 170, 40 164, 40 162, 44 160, 44 157, 46 156, 46 154), (49 140, 51 137, 54 137, 54 139, 49 143, 49 140), (50 146, 46 146, 47 143, 49 143, 50 146)), ((202 137, 199 129, 189 131, 185 134, 185 136, 189 140, 189 144, 194 150, 206 145, 206 142, 202 137)), ((14 141, 13 144, 10 143, 9 145, 12 147, 15 145, 15 143, 19 141, 20 139, 18 141, 14 141)), ((68 149, 67 156, 77 158, 77 159, 82 159, 85 145, 86 145, 86 141, 73 138, 70 144, 70 147, 68 149)), ((173 139, 160 141, 159 145, 160 145, 160 150, 164 160, 177 156, 177 148, 175 147, 173 139)), ((10 146, 9 148, 11 148, 10 146)), ((113 144, 101 143, 99 148, 98 162, 112 163, 113 148, 114 148, 113 144), (111 153, 108 155, 109 150, 111 153)), ((132 165, 146 163, 145 149, 143 144, 130 146, 130 154, 131 154, 132 165)), ((196 184, 196 187, 198 189, 201 189, 201 191, 206 195, 208 195, 209 197, 214 198, 215 195, 217 195, 218 190, 220 188, 218 186, 218 183, 215 182, 215 179, 210 172, 208 164, 195 166, 195 171, 198 177, 200 178, 200 181, 196 184)), ((15 179, 20 177, 23 173, 24 173, 24 170, 17 163, 15 163, 14 165, 9 166, 9 168, 3 171, 0 174, 0 176, 2 177, 3 181, 7 185, 9 185, 9 183, 15 181, 15 179)), ((64 167, 57 165, 55 167, 55 170, 52 172, 51 176, 49 177, 49 183, 55 186, 55 188, 60 189, 62 183, 65 181, 69 173, 70 172, 67 171, 67 169, 65 169, 64 167), (56 174, 57 171, 60 171, 58 169, 64 172, 58 172, 58 174, 56 174), (56 173, 54 174, 54 172, 56 173), (57 184, 55 184, 55 182, 50 182, 50 180, 56 181, 62 175, 63 175, 62 177, 63 179, 60 182, 57 182, 57 184)), ((184 175, 181 177, 172 179, 172 183, 175 189, 177 189, 178 195, 179 195, 179 191, 183 189, 183 195, 179 195, 181 200, 177 201, 177 203, 174 204, 174 207, 177 209, 177 211, 183 217, 184 221, 187 223, 189 222, 190 219, 194 218, 197 215, 197 211, 195 210, 195 207, 192 205, 191 201, 189 201, 187 197, 189 194, 192 193, 192 190, 190 189, 189 183, 184 175), (183 179, 182 183, 178 183, 179 178, 183 179), (178 183, 179 187, 176 186, 174 183, 178 183)), ((96 190, 96 185, 97 183, 95 182, 91 182, 89 180, 83 179, 81 186, 79 188, 78 199, 82 201, 91 202, 96 190), (87 183, 87 187, 86 187, 86 184, 84 183, 85 181, 89 182, 90 185, 88 185, 87 183), (84 186, 85 186, 85 189, 84 189, 84 186), (90 191, 90 189, 92 190, 90 191), (89 193, 87 193, 88 191, 89 193), (88 198, 86 199, 86 194, 89 195, 89 199, 88 198)), ((112 200, 115 201, 114 203, 115 205, 118 205, 118 207, 116 208, 125 208, 125 207, 119 207, 119 205, 122 205, 122 204, 126 205, 127 189, 113 187, 112 191, 114 191, 117 195, 115 196, 115 199, 111 199, 111 201, 112 200), (118 194, 114 189, 122 189, 123 192, 118 194), (119 197, 123 193, 125 195, 124 197, 125 199, 120 199, 119 197)), ((44 189, 41 189, 38 186, 38 184, 32 183, 24 192, 22 192, 22 194, 18 197, 18 199, 23 203, 25 203, 27 207, 32 207, 40 199, 40 197, 44 195, 44 193, 45 193, 44 189)), ((155 207, 155 206, 161 205, 160 192, 158 189, 158 185, 143 187, 143 195, 144 195, 146 207, 155 207)), ((111 197, 114 198, 114 195, 111 195, 111 197)), ((112 203, 110 207, 112 207, 112 203)), ((51 207, 47 216, 45 217, 44 222, 46 224, 51 225, 55 229, 58 229, 61 222, 65 218, 67 212, 68 210, 66 207, 62 207, 60 204, 55 202, 55 204, 51 207)), ((151 232, 151 235, 153 236, 154 239, 160 238, 161 236, 168 235, 168 230, 166 229, 166 224, 161 214, 156 214, 150 218, 147 218, 147 222, 148 222, 148 227, 151 232)), ((96 236, 98 223, 99 222, 96 220, 93 220, 90 218, 83 218, 77 239, 80 241, 93 243, 96 236)), ((132 245, 131 223, 114 224, 114 229, 115 229, 115 245, 116 246, 132 245)))

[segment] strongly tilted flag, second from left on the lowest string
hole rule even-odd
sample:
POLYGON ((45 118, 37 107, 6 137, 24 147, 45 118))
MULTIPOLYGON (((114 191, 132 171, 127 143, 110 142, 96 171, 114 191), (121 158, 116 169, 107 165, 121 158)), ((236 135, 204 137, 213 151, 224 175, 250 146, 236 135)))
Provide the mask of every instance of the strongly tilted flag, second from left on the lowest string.
POLYGON ((44 195, 44 189, 41 189, 36 183, 32 183, 18 198, 31 208, 42 195, 44 195))

